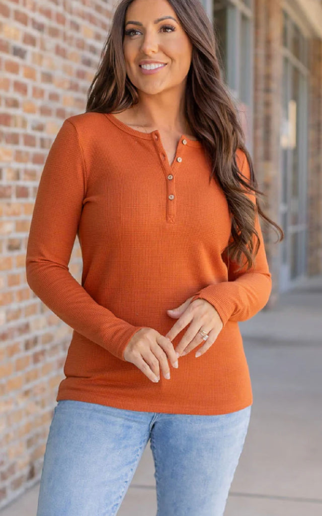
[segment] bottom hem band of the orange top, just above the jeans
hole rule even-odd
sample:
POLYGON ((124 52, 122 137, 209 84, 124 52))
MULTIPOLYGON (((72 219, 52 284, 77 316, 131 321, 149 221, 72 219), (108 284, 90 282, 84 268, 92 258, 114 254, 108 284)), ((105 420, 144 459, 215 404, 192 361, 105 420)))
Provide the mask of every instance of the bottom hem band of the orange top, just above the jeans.
POLYGON ((120 395, 117 397, 113 396, 100 396, 97 393, 86 392, 86 391, 72 391, 71 389, 60 391, 57 394, 56 401, 63 399, 69 399, 74 401, 85 401, 87 403, 94 403, 98 405, 104 405, 107 407, 114 407, 118 409, 134 410, 137 412, 151 412, 151 413, 165 413, 165 414, 182 414, 182 415, 224 415, 232 412, 243 410, 253 403, 252 393, 244 401, 237 401, 235 404, 230 404, 226 408, 218 407, 217 409, 211 407, 201 408, 200 406, 192 405, 189 407, 189 412, 182 412, 177 410, 175 407, 162 406, 162 402, 158 402, 158 405, 150 403, 148 400, 129 399, 123 398, 120 395))

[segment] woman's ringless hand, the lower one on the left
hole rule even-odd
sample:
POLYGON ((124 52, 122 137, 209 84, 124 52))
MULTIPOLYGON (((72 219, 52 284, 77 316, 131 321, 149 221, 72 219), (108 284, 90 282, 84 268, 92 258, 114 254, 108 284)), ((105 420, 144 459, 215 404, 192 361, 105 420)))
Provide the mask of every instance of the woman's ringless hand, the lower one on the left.
POLYGON ((173 367, 178 367, 178 358, 172 342, 153 328, 141 328, 135 332, 123 356, 127 362, 136 365, 152 382, 159 381, 160 367, 164 378, 170 379, 167 359, 173 367))

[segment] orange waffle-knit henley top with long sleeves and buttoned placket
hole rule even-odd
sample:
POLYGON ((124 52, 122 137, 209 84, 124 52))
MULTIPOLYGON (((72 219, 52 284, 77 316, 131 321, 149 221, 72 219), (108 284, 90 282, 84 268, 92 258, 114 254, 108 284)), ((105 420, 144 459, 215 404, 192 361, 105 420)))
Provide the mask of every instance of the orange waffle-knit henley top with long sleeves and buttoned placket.
MULTIPOLYGON (((236 157, 249 178, 241 149, 236 157)), ((238 321, 264 307, 272 279, 258 215, 255 267, 236 273, 236 264, 228 266, 230 214, 209 175, 202 143, 185 135, 170 165, 157 130, 142 133, 96 112, 62 123, 39 182, 26 255, 28 285, 73 329, 56 401, 199 415, 252 404, 238 321), (76 235, 81 285, 68 267, 76 235), (161 372, 154 383, 123 351, 140 328, 165 335, 177 320, 166 310, 193 295, 215 307, 223 329, 205 354, 195 358, 194 349, 178 369, 170 364, 170 380, 161 372)))

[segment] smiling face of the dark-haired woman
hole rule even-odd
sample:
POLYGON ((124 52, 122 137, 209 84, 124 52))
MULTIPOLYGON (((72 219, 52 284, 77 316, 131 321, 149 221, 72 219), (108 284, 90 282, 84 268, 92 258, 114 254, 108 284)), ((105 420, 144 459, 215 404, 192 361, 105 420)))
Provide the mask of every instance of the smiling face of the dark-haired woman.
POLYGON ((134 0, 128 7, 123 52, 127 75, 138 90, 156 94, 184 86, 192 48, 166 0, 134 0), (158 21, 159 18, 164 19, 158 21), (144 70, 139 66, 142 60, 160 61, 165 66, 155 71, 144 70))

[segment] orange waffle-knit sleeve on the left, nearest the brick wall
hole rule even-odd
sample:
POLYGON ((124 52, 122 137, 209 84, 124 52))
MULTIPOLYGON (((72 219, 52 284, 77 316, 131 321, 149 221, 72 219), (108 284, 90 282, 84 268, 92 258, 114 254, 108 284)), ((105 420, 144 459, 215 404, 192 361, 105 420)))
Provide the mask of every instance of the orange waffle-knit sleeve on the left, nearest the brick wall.
POLYGON ((98 304, 69 272, 87 177, 74 124, 65 120, 49 150, 38 186, 26 253, 31 290, 61 320, 124 360, 132 326, 98 304))

